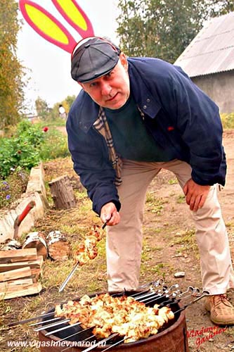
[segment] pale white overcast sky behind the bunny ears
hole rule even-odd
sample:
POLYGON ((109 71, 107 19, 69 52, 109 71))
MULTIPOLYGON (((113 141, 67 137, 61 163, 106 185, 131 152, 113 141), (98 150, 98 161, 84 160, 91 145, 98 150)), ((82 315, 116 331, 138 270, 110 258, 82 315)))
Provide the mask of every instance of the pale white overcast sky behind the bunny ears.
MULTIPOLYGON (((81 39, 50 0, 33 0, 56 17, 78 42, 81 39)), ((76 0, 93 25, 98 36, 108 36, 117 42, 117 0, 76 0)), ((25 89, 27 113, 34 113, 34 101, 40 97, 53 107, 68 95, 79 93, 79 84, 70 76, 70 54, 51 44, 35 32, 20 13, 22 29, 18 33, 18 60, 27 70, 30 79, 25 89)))

